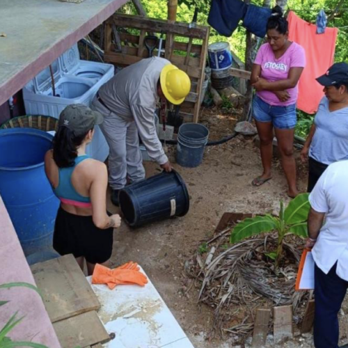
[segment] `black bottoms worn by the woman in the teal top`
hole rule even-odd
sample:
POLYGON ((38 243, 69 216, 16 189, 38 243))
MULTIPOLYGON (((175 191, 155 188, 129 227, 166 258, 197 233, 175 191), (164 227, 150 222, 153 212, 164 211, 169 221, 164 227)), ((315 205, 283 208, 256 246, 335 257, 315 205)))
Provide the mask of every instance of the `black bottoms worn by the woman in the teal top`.
POLYGON ((84 257, 92 264, 111 258, 113 228, 102 230, 93 223, 92 216, 79 216, 59 207, 54 226, 53 247, 60 255, 84 257))

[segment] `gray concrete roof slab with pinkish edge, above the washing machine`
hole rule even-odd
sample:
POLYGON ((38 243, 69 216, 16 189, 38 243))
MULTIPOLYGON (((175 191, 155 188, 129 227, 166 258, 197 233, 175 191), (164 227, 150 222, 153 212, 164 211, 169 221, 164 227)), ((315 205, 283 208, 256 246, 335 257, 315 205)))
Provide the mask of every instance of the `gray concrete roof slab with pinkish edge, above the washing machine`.
POLYGON ((1 0, 0 105, 127 1, 1 0))

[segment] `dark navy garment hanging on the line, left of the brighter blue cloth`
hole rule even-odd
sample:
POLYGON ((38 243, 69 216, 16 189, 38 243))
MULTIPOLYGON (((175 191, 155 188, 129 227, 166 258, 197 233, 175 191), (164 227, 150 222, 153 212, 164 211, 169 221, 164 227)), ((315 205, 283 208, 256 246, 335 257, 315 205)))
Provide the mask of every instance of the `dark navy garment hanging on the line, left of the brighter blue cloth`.
POLYGON ((212 0, 208 23, 219 34, 230 36, 246 15, 247 8, 248 5, 241 0, 212 0))

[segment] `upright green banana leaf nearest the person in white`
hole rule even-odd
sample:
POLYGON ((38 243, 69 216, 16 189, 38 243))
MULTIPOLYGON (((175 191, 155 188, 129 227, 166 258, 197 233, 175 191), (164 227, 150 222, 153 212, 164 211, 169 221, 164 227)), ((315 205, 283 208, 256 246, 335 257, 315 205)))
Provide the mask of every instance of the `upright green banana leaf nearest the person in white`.
POLYGON ((307 221, 310 210, 308 196, 308 193, 301 193, 299 196, 296 196, 296 198, 291 200, 289 205, 286 207, 284 219, 287 226, 307 221))

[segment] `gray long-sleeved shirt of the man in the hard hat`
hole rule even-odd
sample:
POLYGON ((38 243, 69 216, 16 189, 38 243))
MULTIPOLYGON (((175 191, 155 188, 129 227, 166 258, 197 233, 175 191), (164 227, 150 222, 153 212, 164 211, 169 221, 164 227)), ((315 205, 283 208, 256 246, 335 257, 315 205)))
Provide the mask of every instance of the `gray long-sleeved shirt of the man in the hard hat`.
POLYGON ((159 75, 165 65, 164 58, 146 58, 122 69, 100 90, 106 106, 125 120, 134 120, 148 154, 158 164, 168 161, 155 129, 154 113, 159 75))

